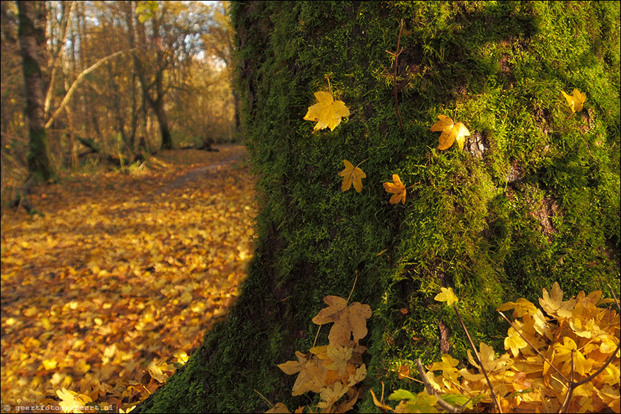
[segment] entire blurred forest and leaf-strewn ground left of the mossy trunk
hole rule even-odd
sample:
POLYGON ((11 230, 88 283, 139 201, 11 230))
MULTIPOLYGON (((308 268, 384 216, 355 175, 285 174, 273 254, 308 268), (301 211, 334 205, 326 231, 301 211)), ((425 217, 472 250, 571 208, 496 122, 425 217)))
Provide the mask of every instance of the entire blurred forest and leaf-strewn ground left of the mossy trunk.
POLYGON ((128 410, 238 295, 254 193, 227 8, 1 2, 3 411, 128 410))

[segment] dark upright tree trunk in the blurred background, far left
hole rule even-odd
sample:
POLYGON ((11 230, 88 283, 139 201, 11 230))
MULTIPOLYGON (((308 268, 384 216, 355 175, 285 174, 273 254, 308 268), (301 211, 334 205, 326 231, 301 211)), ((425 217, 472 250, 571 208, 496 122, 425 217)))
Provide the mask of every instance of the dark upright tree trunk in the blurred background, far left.
MULTIPOLYGON (((41 74, 41 47, 45 47, 45 39, 41 39, 41 28, 36 24, 39 1, 18 1, 19 8, 19 43, 23 58, 23 77, 26 95, 25 119, 28 122, 28 171, 30 175, 41 181, 54 177, 48 157, 48 136, 45 131, 45 114, 43 111, 43 76, 41 74)), ((43 9, 44 10, 44 9, 43 9)), ((45 25, 43 25, 45 30, 45 25)), ((45 32, 44 32, 45 33, 45 32)))

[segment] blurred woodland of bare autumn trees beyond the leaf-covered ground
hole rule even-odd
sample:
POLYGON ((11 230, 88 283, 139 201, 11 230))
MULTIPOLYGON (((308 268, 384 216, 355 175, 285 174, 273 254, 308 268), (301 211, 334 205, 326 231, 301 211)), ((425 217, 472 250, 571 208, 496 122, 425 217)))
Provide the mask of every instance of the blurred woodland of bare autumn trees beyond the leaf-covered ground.
MULTIPOLYGON (((25 6, 43 84, 44 179, 101 161, 131 164, 162 148, 234 140, 226 2, 19 3, 32 3, 25 6)), ((41 166, 28 161, 20 10, 15 1, 1 5, 4 208, 41 166)))

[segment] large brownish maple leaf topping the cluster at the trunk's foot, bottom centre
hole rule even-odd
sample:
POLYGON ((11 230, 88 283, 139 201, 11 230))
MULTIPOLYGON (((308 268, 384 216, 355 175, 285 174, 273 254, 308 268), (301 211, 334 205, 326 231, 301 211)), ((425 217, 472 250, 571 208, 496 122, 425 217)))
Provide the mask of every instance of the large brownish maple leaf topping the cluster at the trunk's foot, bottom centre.
POLYGON ((344 347, 349 344, 351 336, 356 343, 366 336, 366 319, 371 317, 369 305, 359 302, 347 305, 347 301, 339 296, 326 296, 324 302, 328 307, 319 311, 313 318, 313 323, 317 325, 334 323, 328 334, 330 345, 344 347))

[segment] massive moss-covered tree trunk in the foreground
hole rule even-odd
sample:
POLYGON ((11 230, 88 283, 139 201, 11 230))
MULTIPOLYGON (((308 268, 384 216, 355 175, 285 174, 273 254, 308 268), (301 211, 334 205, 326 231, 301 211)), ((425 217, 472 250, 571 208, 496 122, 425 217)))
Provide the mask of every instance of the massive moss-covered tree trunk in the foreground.
MULTIPOLYGON (((242 294, 204 345, 142 411, 293 410, 295 375, 276 364, 307 351, 322 298, 368 303, 368 389, 413 384, 395 369, 441 352, 464 358, 453 287, 474 342, 503 349, 494 309, 619 290, 618 2, 233 3, 242 131, 262 213, 242 294), (401 39, 399 24, 403 19, 401 39), (397 78, 394 51, 399 41, 397 78), (351 115, 312 133, 302 120, 328 89, 351 115), (394 102, 397 85, 399 125, 394 102), (569 116, 561 91, 585 91, 569 116), (439 114, 464 122, 464 150, 437 149, 439 114), (363 162, 361 193, 341 191, 343 160, 363 162), (382 187, 399 174, 405 204, 382 187)), ((322 329, 319 344, 326 343, 322 329)))

